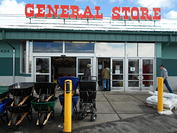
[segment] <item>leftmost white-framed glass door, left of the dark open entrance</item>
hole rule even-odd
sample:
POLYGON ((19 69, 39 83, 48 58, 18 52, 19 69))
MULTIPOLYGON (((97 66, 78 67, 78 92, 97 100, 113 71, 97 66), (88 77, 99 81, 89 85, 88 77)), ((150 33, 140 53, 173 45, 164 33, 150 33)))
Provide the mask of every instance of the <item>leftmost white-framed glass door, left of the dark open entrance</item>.
POLYGON ((36 82, 51 82, 50 57, 36 57, 34 70, 36 82))

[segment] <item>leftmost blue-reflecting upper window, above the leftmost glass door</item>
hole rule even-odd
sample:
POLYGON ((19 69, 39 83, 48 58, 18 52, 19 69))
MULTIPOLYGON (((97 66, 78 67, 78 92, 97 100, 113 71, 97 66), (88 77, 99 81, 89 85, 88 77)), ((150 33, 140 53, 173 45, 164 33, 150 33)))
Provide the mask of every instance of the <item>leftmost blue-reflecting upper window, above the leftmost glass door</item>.
POLYGON ((62 53, 63 42, 33 42, 33 52, 62 53))

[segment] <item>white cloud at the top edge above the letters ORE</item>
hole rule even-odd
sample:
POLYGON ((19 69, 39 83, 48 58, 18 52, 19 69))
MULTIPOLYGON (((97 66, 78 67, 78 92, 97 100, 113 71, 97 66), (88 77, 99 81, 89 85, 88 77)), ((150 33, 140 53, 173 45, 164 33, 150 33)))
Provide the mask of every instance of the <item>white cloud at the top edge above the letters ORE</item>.
POLYGON ((165 7, 175 6, 176 0, 138 0, 137 3, 143 7, 165 7))

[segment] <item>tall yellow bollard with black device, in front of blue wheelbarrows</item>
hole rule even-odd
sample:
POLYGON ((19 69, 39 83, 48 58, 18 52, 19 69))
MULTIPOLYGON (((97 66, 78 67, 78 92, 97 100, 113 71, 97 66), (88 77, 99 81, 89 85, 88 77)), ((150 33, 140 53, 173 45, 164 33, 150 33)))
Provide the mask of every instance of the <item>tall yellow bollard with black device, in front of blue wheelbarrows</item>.
POLYGON ((72 132, 72 81, 65 80, 64 85, 64 133, 72 132))

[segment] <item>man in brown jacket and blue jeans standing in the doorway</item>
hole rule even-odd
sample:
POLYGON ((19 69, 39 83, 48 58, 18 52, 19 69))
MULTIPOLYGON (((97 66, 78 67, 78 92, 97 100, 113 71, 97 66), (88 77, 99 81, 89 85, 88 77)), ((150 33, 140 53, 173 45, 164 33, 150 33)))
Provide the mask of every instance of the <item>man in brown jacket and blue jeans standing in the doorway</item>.
POLYGON ((105 91, 110 91, 110 71, 105 67, 102 71, 103 87, 105 91))

